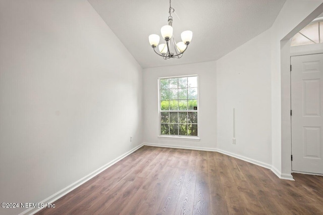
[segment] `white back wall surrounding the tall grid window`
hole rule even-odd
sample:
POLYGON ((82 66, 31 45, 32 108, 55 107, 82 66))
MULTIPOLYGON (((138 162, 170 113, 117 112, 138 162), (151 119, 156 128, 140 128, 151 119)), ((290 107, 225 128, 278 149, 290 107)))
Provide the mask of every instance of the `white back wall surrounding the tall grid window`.
MULTIPOLYGON (((185 58, 185 56, 183 57, 185 58)), ((217 146, 216 62, 186 64, 181 66, 156 67, 143 70, 144 139, 145 143, 177 147, 217 146), (198 75, 199 87, 199 137, 200 141, 158 138, 158 84, 159 77, 198 75)))

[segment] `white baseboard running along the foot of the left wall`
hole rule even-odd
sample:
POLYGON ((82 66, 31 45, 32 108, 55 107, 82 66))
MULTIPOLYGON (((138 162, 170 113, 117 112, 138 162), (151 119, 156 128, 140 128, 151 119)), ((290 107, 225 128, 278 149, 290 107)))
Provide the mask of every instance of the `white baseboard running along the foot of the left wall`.
MULTIPOLYGON (((87 176, 84 176, 83 178, 81 178, 80 180, 74 182, 73 184, 65 187, 64 189, 60 190, 59 192, 49 196, 48 198, 42 200, 40 203, 44 203, 44 205, 51 204, 52 202, 58 200, 59 198, 61 198, 62 196, 66 195, 67 193, 71 192, 72 190, 74 190, 75 188, 79 187, 80 185, 84 184, 85 182, 87 182, 88 180, 92 179, 94 176, 98 175, 99 173, 103 172, 104 170, 106 170, 107 168, 111 167, 112 165, 116 164, 117 162, 119 162, 119 160, 123 159, 124 157, 128 156, 129 154, 131 154, 132 152, 136 151, 137 149, 141 148, 143 146, 143 144, 140 144, 138 146, 136 146, 135 148, 127 151, 126 153, 120 155, 119 157, 117 157, 116 159, 112 160, 111 162, 105 164, 104 166, 98 168, 97 170, 93 171, 92 173, 88 174, 87 176)), ((39 210, 41 210, 43 208, 29 208, 28 210, 23 211, 22 213, 20 213, 19 215, 23 215, 23 214, 34 214, 36 212, 38 212, 39 210)))

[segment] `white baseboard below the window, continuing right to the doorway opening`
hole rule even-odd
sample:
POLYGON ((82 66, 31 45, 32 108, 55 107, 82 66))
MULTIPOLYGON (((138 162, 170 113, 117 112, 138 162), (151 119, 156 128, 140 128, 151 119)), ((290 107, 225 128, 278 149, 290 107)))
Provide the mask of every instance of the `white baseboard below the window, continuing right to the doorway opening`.
POLYGON ((260 167, 266 168, 268 170, 271 170, 280 179, 295 181, 291 174, 281 173, 274 166, 272 166, 270 164, 266 164, 266 163, 260 162, 258 160, 255 160, 255 159, 251 159, 251 158, 248 158, 248 157, 245 157, 245 156, 242 156, 242 155, 239 155, 239 154, 231 153, 229 151, 225 151, 225 150, 218 149, 218 148, 203 148, 203 147, 194 147, 194 146, 156 144, 156 143, 143 143, 143 145, 156 146, 156 147, 168 147, 168 148, 193 149, 193 150, 202 150, 202 151, 217 151, 217 152, 220 152, 222 154, 226 154, 226 155, 229 155, 229 156, 244 160, 245 162, 249 162, 251 164, 255 164, 257 166, 260 166, 260 167))

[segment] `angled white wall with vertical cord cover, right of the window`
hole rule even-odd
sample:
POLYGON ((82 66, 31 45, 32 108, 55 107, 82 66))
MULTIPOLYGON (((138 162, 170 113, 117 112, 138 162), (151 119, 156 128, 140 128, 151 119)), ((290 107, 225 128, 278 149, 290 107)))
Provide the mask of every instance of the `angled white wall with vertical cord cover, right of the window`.
POLYGON ((270 36, 267 30, 217 61, 218 149, 267 165, 272 163, 270 36))

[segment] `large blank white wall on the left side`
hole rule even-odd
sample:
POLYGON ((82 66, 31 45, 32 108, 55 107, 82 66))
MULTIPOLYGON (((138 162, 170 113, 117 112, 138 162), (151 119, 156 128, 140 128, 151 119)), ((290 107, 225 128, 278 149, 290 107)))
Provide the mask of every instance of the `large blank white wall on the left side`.
POLYGON ((142 143, 142 69, 87 1, 1 1, 0 47, 0 202, 40 202, 142 143))

